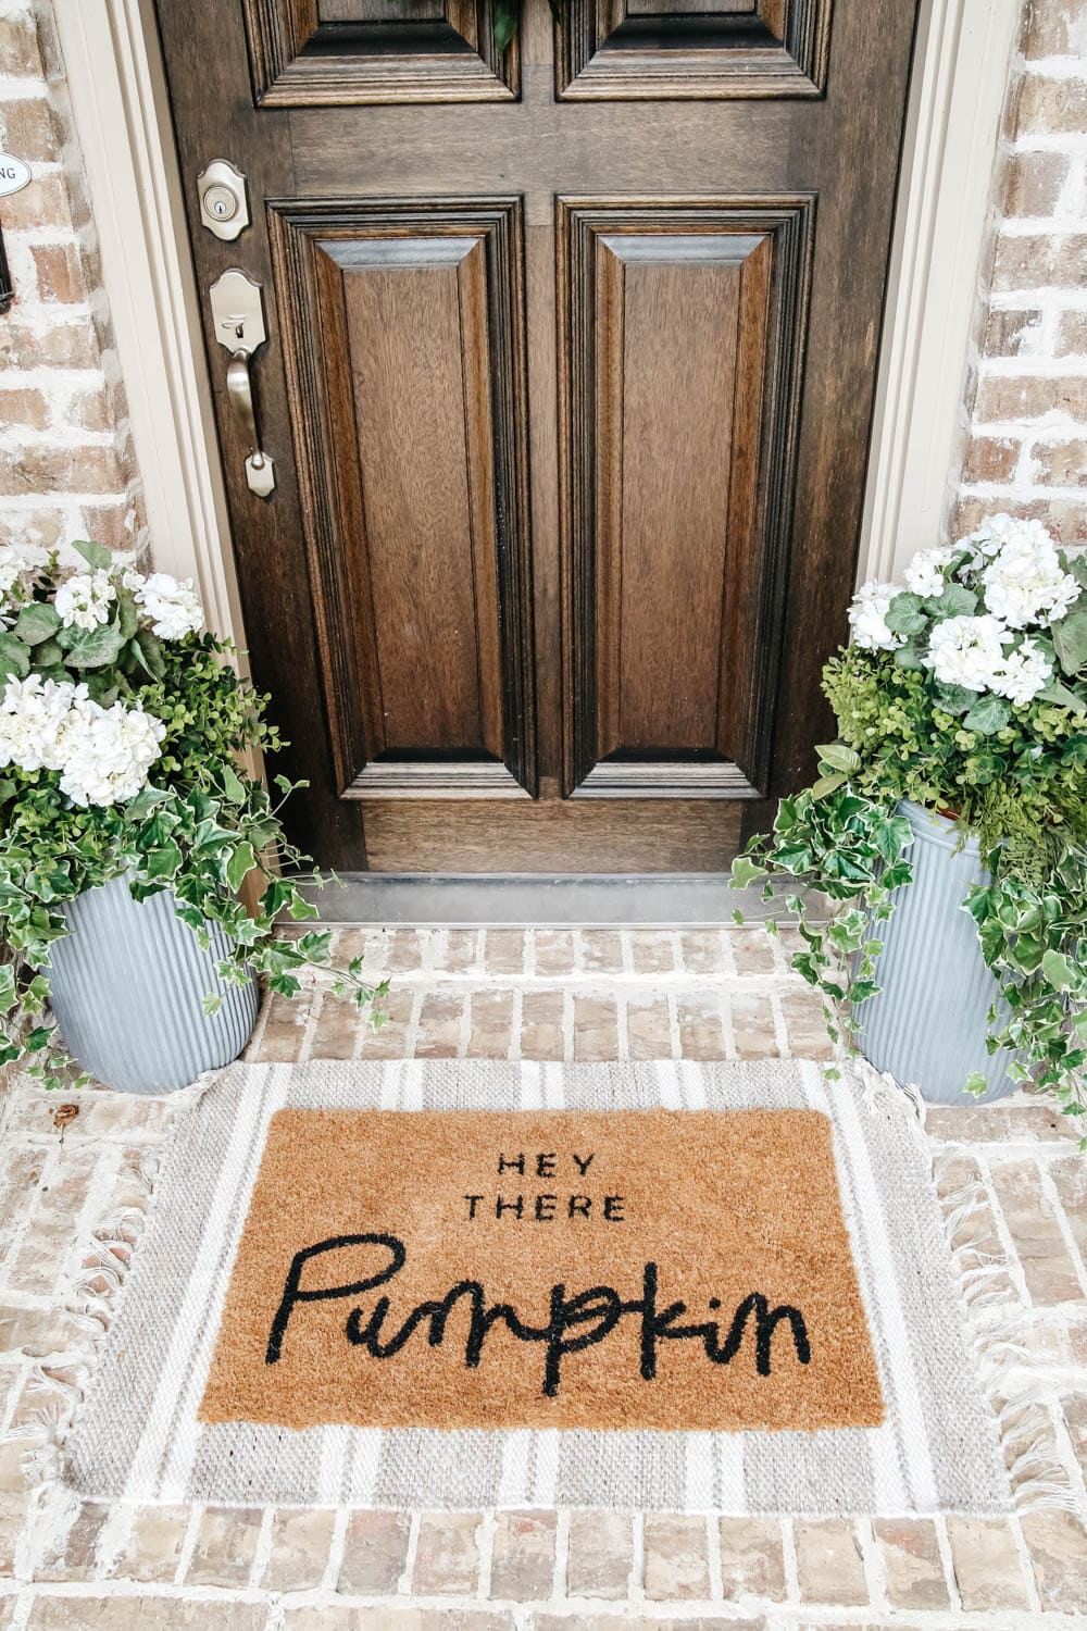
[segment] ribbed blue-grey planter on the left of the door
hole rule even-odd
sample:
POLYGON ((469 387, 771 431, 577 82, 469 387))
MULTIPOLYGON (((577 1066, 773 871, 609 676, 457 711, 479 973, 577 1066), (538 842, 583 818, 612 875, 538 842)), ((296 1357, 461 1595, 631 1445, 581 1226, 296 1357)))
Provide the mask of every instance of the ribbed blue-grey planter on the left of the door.
POLYGON ((256 983, 223 985, 215 964, 230 939, 209 925, 207 951, 163 892, 134 900, 125 877, 65 907, 70 933, 52 948, 52 1011, 83 1070, 124 1093, 184 1088, 243 1050, 257 1010, 256 983), (204 997, 223 998, 205 1016, 204 997))

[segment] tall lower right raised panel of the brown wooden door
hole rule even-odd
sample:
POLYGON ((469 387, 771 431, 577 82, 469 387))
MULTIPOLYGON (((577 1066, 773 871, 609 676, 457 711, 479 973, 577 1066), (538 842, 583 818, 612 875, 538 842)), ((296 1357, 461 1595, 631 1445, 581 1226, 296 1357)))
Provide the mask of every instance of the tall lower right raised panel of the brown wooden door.
POLYGON ((575 796, 766 786, 810 214, 561 202, 575 796))

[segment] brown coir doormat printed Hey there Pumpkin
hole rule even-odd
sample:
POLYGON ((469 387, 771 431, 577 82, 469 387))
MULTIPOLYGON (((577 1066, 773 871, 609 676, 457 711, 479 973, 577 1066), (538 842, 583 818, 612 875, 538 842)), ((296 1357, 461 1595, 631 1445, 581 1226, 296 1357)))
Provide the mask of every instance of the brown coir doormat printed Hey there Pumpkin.
POLYGON ((831 1122, 280 1111, 199 1417, 875 1427, 831 1122))

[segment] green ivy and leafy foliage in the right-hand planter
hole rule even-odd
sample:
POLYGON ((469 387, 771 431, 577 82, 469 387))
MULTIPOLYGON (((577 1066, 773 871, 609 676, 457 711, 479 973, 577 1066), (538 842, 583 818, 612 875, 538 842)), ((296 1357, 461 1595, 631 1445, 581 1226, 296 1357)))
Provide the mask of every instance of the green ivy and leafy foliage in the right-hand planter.
MULTIPOLYGON (((908 602, 900 623, 913 623, 916 599, 893 602, 891 612, 908 602)), ((1080 634, 1059 628, 1056 651, 1080 669, 1080 634)), ((878 990, 880 925, 913 877, 911 829, 895 812, 911 799, 953 816, 963 835, 979 837, 992 874, 965 902, 1010 1008, 1007 1024, 996 1010, 989 1016, 988 1047, 1015 1052, 1017 1073, 1079 1114, 1087 1109, 1087 683, 1077 675, 1054 700, 1051 682, 1019 706, 940 685, 926 667, 903 665, 901 649, 851 646, 826 664, 839 740, 816 750, 818 780, 782 799, 772 832, 733 863, 733 884, 766 879, 771 899, 774 876, 803 882, 805 892, 786 897, 803 939, 794 966, 823 992, 831 1036, 856 1052, 857 1010, 878 990), (808 891, 834 904, 828 923, 808 891)), ((966 1086, 981 1091, 984 1080, 966 1086)))

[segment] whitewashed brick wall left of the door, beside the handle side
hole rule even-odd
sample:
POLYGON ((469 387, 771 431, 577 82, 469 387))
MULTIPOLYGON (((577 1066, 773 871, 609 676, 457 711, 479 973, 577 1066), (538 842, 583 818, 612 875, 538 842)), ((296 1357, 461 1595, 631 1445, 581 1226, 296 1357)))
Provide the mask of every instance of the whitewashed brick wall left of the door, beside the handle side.
POLYGON ((0 199, 16 300, 0 316, 0 540, 139 543, 124 391, 49 0, 0 0, 0 199))

